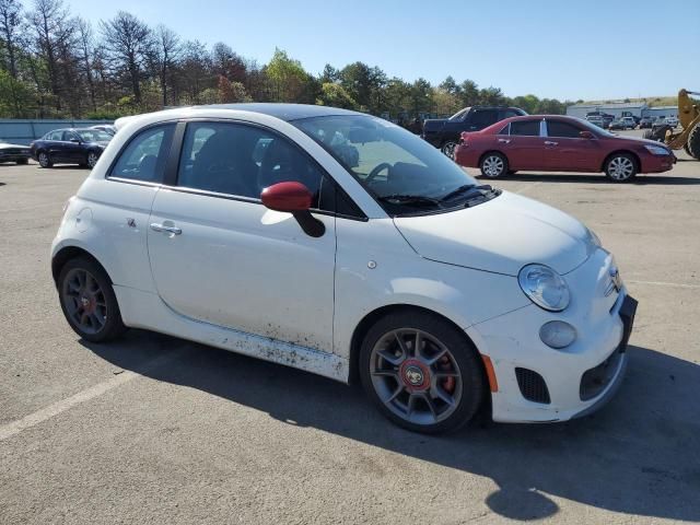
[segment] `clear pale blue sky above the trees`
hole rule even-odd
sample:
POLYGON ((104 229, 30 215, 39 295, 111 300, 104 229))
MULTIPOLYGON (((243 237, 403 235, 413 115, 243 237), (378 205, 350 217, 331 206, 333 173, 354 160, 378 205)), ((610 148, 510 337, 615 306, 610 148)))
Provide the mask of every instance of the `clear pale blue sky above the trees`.
POLYGON ((452 75, 509 96, 560 100, 700 91, 700 0, 66 0, 96 23, 129 11, 183 38, 224 42, 266 63, 285 50, 378 66, 433 84, 452 75))

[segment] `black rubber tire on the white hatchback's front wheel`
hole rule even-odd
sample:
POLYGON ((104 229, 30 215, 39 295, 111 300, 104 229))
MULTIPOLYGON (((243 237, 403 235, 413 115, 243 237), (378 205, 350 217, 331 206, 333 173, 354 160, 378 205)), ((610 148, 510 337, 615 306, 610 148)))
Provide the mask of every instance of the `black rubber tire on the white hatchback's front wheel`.
MULTIPOLYGON (((410 340, 408 341, 408 345, 410 345, 410 340)), ((428 349, 428 342, 424 345, 424 348, 428 349)), ((424 351, 425 350, 419 353, 423 354, 424 351)), ((382 360, 383 358, 378 359, 382 360)), ((388 364, 389 366, 392 365, 390 363, 388 364)), ((429 313, 405 310, 397 311, 381 318, 368 331, 362 341, 359 369, 362 386, 378 410, 394 423, 413 432, 432 434, 457 430, 477 415, 485 400, 487 380, 485 377, 483 363, 481 362, 476 348, 462 330, 442 317, 429 313), (433 388, 439 388, 444 394, 448 386, 445 382, 447 382, 448 378, 440 380, 436 375, 431 375, 431 373, 428 373, 427 377, 424 377, 423 373, 419 372, 422 381, 427 382, 424 384, 430 386, 425 386, 424 388, 427 388, 427 390, 420 393, 409 390, 410 385, 408 384, 408 381, 410 381, 409 377, 411 377, 409 374, 415 374, 415 371, 411 371, 410 369, 415 366, 412 366, 412 364, 408 364, 407 371, 406 365, 409 361, 416 361, 416 359, 405 358, 400 365, 396 364, 394 366, 395 376, 390 378, 387 377, 384 380, 382 374, 376 372, 374 374, 372 373, 375 360, 377 359, 375 347, 381 345, 383 340, 387 340, 387 338, 388 340, 392 340, 392 334, 394 330, 402 330, 409 335, 411 334, 411 330, 419 330, 422 332, 422 337, 428 339, 428 341, 430 341, 430 338, 434 338, 448 350, 448 358, 443 357, 435 364, 435 366, 447 366, 451 371, 450 373, 454 373, 454 378, 452 380, 454 382, 452 383, 453 392, 447 394, 448 396, 454 396, 452 398, 454 404, 445 404, 443 407, 444 410, 442 415, 446 416, 438 416, 432 411, 432 406, 431 410, 428 411, 427 408, 429 408, 430 404, 420 399, 423 399, 424 396, 432 396, 433 388), (447 361, 443 362, 443 360, 447 361), (401 377, 400 381, 402 381, 406 386, 399 384, 399 376, 401 377), (382 400, 380 397, 382 393, 377 392, 377 389, 382 389, 383 385, 380 380, 394 382, 396 387, 389 386, 392 389, 404 389, 398 396, 395 395, 396 400, 388 400, 386 404, 382 400), (377 383, 378 386, 376 386, 377 383), (456 398, 457 394, 458 398, 456 398), (410 421, 410 409, 408 415, 404 413, 400 416, 400 410, 397 410, 396 407, 399 405, 401 396, 415 396, 419 402, 423 405, 424 416, 427 418, 431 418, 432 413, 432 419, 435 419, 435 421, 427 421, 422 423, 410 421), (441 417, 443 419, 439 419, 441 417)), ((435 374, 441 373, 433 369, 430 370, 435 372, 435 374)), ((432 405, 434 405, 435 401, 440 401, 440 398, 432 397, 432 405)), ((407 401, 406 405, 410 406, 410 400, 407 401)))

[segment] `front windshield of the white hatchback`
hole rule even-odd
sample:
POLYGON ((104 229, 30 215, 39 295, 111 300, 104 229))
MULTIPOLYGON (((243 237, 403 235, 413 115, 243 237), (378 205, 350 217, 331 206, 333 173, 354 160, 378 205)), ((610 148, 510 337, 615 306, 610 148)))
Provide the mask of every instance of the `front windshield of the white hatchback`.
POLYGON ((392 214, 445 209, 445 198, 454 207, 456 190, 477 185, 440 150, 381 118, 342 115, 291 124, 334 155, 392 214))

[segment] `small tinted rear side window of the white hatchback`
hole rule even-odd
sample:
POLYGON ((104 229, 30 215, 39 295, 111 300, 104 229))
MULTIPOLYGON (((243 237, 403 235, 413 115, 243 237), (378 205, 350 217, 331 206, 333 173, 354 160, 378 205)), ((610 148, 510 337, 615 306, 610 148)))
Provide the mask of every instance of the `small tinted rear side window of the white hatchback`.
POLYGON ((174 129, 174 124, 166 124, 141 131, 121 151, 110 175, 162 183, 174 129))

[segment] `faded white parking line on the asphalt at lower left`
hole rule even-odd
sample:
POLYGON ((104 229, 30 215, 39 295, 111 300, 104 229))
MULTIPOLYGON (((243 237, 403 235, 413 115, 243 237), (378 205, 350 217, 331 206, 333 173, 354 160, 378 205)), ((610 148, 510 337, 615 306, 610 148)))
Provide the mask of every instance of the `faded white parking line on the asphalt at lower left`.
MULTIPOLYGON (((155 358, 151 361, 148 361, 143 366, 139 366, 142 373, 162 366, 175 359, 177 359, 184 350, 177 352, 171 352, 166 355, 161 355, 160 358, 155 358)), ((20 432, 35 427, 44 421, 51 419, 55 416, 58 416, 61 412, 74 407, 75 405, 80 405, 81 402, 89 401, 94 399, 95 397, 102 396, 103 394, 116 388, 117 386, 124 385, 137 377, 141 374, 137 372, 125 371, 119 375, 110 377, 107 381, 103 381, 102 383, 96 384, 95 386, 91 386, 78 394, 74 394, 66 399, 57 401, 48 407, 42 408, 36 412, 30 413, 22 419, 16 421, 12 421, 11 423, 3 424, 0 427, 0 441, 4 441, 13 435, 19 434, 20 432)))

